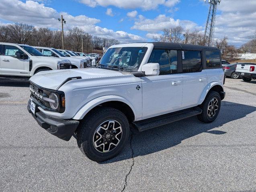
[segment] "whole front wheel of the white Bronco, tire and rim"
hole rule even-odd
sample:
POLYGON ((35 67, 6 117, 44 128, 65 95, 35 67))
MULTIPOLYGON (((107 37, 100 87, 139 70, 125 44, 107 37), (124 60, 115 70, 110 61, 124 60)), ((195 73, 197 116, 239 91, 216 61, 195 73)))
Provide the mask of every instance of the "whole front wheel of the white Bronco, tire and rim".
POLYGON ((78 126, 77 142, 89 159, 102 162, 121 152, 129 137, 129 122, 119 110, 93 110, 78 126))

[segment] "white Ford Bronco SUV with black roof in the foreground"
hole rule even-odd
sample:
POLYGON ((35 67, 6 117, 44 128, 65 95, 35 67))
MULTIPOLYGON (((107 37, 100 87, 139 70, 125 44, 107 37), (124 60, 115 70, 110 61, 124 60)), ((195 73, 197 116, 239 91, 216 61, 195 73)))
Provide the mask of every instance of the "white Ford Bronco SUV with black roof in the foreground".
POLYGON ((111 46, 100 68, 40 72, 30 78, 28 111, 51 134, 91 160, 117 155, 139 131, 197 116, 210 123, 225 97, 220 51, 164 42, 111 46))

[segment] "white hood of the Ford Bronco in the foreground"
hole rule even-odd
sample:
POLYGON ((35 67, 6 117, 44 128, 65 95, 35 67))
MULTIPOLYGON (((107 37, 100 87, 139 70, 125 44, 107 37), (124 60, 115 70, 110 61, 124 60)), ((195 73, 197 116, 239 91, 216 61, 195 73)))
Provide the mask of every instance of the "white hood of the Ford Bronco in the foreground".
POLYGON ((68 78, 81 77, 82 79, 106 78, 125 76, 119 71, 100 68, 63 69, 42 71, 33 75, 29 80, 43 88, 57 90, 68 78))

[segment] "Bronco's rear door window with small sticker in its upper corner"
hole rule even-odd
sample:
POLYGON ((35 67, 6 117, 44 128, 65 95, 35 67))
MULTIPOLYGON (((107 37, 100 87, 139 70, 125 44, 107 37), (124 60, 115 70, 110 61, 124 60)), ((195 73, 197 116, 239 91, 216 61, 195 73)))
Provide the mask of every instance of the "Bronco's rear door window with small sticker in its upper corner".
POLYGON ((200 72, 202 70, 201 51, 182 51, 183 73, 200 72))

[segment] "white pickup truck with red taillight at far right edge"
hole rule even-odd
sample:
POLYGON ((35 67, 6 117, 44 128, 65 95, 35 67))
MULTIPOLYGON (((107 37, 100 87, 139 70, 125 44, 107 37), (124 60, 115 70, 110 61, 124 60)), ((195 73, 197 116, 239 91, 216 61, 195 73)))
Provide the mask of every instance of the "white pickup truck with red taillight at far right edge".
POLYGON ((236 72, 243 78, 245 82, 250 82, 256 79, 256 64, 255 63, 238 63, 236 72))

